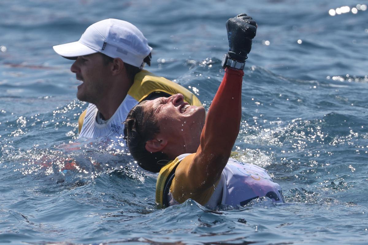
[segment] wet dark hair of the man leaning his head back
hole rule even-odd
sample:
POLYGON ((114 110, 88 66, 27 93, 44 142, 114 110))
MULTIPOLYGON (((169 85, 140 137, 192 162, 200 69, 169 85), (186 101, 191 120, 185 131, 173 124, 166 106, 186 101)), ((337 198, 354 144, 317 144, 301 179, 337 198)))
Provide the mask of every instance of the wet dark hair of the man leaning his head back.
POLYGON ((124 124, 125 140, 130 154, 143 169, 158 173, 161 167, 170 161, 163 152, 149 152, 146 150, 146 142, 155 138, 160 133, 157 121, 153 117, 153 109, 144 110, 147 100, 133 107, 128 113, 124 124))

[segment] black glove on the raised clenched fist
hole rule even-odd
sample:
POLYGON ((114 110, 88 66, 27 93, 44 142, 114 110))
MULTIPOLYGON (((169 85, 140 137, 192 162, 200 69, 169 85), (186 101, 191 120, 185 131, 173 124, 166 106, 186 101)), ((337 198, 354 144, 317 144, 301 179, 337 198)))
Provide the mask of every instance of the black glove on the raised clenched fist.
POLYGON ((226 30, 227 39, 229 39, 227 55, 232 60, 245 62, 257 30, 256 22, 246 14, 239 14, 226 21, 226 30))

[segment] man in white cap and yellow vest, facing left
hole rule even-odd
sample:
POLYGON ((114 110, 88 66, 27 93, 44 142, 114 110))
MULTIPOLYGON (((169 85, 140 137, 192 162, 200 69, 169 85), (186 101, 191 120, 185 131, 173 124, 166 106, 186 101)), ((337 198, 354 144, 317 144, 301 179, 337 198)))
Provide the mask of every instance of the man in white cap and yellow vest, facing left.
POLYGON ((82 81, 77 98, 90 103, 78 121, 79 138, 107 137, 124 142, 122 123, 130 109, 143 100, 184 93, 189 104, 201 105, 184 87, 142 70, 145 63, 151 64, 152 48, 129 22, 96 22, 78 42, 53 48, 57 54, 75 60, 71 71, 82 81))

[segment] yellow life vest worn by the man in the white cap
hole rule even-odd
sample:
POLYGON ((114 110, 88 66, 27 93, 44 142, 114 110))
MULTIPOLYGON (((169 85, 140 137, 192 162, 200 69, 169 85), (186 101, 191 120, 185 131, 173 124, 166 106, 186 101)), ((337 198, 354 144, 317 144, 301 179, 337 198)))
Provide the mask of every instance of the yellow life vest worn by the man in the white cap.
MULTIPOLYGON (((155 74, 142 70, 134 77, 134 83, 130 87, 128 94, 138 102, 145 100, 150 94, 154 92, 163 92, 167 94, 181 93, 184 96, 184 101, 190 105, 202 106, 201 101, 188 89, 174 83, 166 78, 156 76, 155 74)), ((84 117, 87 110, 82 112, 78 119, 78 130, 81 132, 84 117)))

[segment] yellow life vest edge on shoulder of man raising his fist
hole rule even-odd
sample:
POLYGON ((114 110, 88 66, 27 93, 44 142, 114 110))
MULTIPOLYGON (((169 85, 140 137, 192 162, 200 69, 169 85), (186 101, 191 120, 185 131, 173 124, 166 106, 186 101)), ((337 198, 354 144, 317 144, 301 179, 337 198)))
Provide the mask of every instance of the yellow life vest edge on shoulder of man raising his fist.
POLYGON ((171 182, 175 177, 175 170, 178 166, 178 163, 180 163, 178 158, 175 158, 174 161, 167 163, 161 168, 159 176, 157 177, 156 203, 158 203, 160 206, 169 206, 166 195, 169 193, 171 182))

